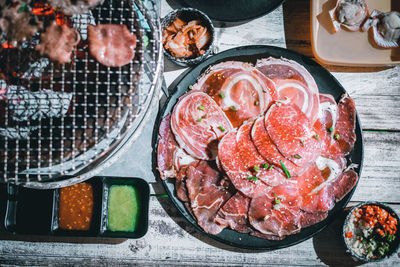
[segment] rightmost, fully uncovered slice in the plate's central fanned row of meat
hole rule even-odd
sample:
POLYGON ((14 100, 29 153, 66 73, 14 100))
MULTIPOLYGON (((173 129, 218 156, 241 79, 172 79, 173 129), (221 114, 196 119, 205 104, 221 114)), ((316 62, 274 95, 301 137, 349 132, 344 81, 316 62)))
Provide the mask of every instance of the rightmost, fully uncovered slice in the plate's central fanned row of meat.
POLYGON ((306 166, 321 154, 321 140, 310 120, 292 103, 276 103, 265 115, 265 127, 279 152, 297 166, 306 166))

